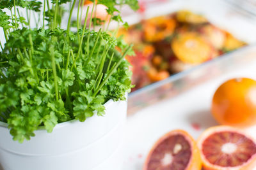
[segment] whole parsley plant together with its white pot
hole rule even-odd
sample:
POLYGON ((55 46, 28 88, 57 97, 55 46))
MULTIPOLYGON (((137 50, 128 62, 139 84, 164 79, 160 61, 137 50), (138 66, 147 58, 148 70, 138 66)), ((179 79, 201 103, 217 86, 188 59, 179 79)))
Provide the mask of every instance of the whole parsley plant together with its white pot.
POLYGON ((113 20, 122 24, 118 9, 136 10, 138 1, 98 0, 86 11, 83 4, 0 0, 4 170, 118 169, 122 164, 119 148, 132 87, 124 57, 133 52, 115 38, 117 29, 108 33, 108 25, 113 20), (97 4, 106 6, 108 20, 93 17, 97 4), (61 27, 64 13, 69 15, 61 27))

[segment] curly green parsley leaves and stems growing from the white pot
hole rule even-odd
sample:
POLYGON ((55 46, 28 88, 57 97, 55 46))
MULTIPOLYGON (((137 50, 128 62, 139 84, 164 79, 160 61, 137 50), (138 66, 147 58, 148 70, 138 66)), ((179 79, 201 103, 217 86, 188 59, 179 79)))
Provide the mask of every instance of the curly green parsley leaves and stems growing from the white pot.
MULTIPOLYGON (((102 116, 106 101, 125 100, 125 92, 132 87, 132 73, 124 60, 133 53, 131 46, 102 29, 91 29, 98 19, 88 18, 88 11, 89 27, 81 27, 78 10, 77 31, 70 31, 70 18, 67 29, 61 29, 65 11, 61 4, 65 3, 71 3, 71 15, 76 1, 0 1, 0 27, 6 38, 4 47, 0 44, 0 120, 8 123, 13 139, 20 143, 35 136, 39 127, 52 132, 61 122, 84 122, 95 113, 102 116), (28 18, 20 16, 19 8, 26 8, 28 18), (31 29, 31 13, 36 12, 42 14, 43 24, 31 29)), ((122 18, 116 6, 128 4, 135 10, 138 5, 136 0, 98 3, 106 5, 118 22, 122 18)))

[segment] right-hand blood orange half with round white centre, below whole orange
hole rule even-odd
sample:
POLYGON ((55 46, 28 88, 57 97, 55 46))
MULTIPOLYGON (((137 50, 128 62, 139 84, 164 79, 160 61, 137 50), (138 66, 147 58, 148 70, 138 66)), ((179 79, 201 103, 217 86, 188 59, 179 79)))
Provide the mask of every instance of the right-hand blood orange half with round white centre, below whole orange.
POLYGON ((256 143, 234 127, 217 126, 203 132, 198 148, 204 170, 252 170, 256 143))

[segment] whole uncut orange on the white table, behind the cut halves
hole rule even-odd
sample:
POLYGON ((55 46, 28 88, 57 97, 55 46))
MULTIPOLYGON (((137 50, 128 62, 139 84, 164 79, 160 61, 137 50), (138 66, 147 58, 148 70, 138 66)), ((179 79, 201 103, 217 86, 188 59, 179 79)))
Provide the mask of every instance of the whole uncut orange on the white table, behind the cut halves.
POLYGON ((212 99, 212 115, 220 124, 248 127, 256 123, 256 81, 234 78, 223 83, 212 99))

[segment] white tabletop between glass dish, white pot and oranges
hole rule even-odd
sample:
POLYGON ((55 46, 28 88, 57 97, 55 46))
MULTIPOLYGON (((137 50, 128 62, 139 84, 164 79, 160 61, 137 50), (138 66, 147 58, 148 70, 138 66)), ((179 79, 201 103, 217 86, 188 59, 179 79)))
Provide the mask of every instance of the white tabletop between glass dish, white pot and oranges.
MULTIPOLYGON (((141 170, 152 145, 168 131, 184 129, 196 139, 207 127, 218 125, 210 112, 212 96, 221 83, 234 77, 256 80, 256 59, 241 69, 234 69, 128 117, 122 170, 141 170), (193 124, 199 128, 193 127, 193 124)), ((256 138, 256 126, 246 131, 256 138)))

